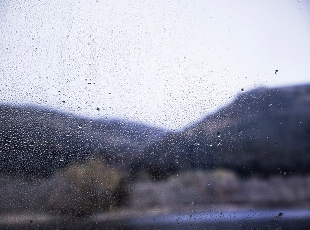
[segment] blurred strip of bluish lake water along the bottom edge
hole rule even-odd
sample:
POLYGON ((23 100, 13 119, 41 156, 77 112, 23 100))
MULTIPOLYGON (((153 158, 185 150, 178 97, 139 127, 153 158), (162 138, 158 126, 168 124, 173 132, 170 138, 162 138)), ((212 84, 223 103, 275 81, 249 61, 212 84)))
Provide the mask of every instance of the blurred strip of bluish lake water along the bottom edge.
POLYGON ((134 218, 108 220, 104 215, 96 215, 80 220, 53 220, 46 223, 10 225, 1 229, 122 229, 122 230, 309 230, 310 209, 249 209, 243 211, 206 211, 186 214, 156 216, 137 215, 134 218), (103 221, 104 220, 104 221, 103 221))

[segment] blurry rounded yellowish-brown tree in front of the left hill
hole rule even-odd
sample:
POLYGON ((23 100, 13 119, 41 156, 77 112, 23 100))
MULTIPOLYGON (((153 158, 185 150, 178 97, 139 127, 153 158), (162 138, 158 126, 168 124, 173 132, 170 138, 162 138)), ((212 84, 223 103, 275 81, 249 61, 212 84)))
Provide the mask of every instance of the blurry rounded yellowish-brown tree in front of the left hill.
POLYGON ((125 179, 96 157, 84 164, 72 164, 53 177, 49 205, 60 214, 90 215, 112 209, 125 197, 125 179))

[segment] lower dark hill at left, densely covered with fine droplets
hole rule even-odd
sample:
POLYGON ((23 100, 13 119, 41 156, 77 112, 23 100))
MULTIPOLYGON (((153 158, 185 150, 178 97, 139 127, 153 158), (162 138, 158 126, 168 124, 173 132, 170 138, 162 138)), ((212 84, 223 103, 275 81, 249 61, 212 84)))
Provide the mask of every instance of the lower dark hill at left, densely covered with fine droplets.
POLYGON ((0 173, 48 176, 94 154, 121 167, 166 133, 136 122, 0 105, 0 173))

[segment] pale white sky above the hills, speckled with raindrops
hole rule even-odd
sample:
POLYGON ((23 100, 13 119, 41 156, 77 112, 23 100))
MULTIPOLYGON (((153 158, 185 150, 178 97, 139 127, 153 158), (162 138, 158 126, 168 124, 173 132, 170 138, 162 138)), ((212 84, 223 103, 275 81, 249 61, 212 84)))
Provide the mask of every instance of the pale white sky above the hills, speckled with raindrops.
POLYGON ((310 0, 0 0, 0 28, 4 103, 179 129, 310 83, 310 0))

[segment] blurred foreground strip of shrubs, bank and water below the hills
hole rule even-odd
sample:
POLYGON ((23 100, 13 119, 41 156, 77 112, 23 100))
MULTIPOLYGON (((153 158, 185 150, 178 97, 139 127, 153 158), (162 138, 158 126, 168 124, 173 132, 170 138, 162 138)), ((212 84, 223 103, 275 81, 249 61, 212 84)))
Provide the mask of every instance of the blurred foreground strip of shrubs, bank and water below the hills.
POLYGON ((141 172, 130 180, 97 157, 51 178, 2 175, 0 189, 0 227, 9 229, 308 229, 310 220, 310 175, 281 172, 184 171, 161 180, 141 172))

